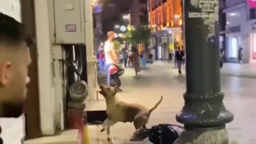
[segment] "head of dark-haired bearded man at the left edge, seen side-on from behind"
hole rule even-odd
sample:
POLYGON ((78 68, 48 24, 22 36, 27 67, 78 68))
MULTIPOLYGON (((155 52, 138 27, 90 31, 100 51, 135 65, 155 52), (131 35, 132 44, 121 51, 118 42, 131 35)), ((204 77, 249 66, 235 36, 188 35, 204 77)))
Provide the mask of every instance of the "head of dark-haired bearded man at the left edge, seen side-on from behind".
POLYGON ((30 39, 23 25, 0 13, 0 117, 19 117, 26 100, 30 39))

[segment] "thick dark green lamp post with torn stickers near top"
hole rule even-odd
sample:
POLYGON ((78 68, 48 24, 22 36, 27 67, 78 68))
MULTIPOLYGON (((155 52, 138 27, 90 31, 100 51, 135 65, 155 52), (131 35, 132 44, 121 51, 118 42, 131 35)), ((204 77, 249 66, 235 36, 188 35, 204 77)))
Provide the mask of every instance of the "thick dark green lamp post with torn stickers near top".
POLYGON ((176 119, 185 125, 179 144, 227 144, 225 124, 234 115, 220 86, 219 2, 183 0, 187 91, 176 119))

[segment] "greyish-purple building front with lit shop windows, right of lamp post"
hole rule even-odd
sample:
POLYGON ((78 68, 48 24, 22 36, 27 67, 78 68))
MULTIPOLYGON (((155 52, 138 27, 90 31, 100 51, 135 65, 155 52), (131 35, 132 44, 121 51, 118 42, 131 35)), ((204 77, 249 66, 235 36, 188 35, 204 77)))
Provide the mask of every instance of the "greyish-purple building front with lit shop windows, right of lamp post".
POLYGON ((256 62, 256 11, 245 0, 226 0, 226 59, 238 62, 239 46, 243 48, 243 63, 256 62))

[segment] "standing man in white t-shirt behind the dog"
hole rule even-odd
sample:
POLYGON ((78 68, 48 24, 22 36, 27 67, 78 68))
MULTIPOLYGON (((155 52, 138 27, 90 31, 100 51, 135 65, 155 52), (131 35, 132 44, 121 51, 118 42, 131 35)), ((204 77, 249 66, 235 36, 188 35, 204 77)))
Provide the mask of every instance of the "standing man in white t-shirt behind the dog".
POLYGON ((115 46, 113 43, 113 40, 115 38, 115 32, 109 31, 107 36, 108 36, 108 40, 105 42, 104 52, 105 52, 106 69, 108 70, 107 85, 110 85, 109 68, 114 64, 116 65, 116 62, 117 62, 117 55, 116 55, 115 46))

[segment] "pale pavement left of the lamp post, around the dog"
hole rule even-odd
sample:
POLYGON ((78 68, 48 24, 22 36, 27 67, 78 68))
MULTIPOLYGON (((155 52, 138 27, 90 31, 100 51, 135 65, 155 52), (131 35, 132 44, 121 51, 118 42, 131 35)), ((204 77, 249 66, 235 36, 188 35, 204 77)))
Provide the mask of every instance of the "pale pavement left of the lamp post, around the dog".
MULTIPOLYGON (((173 123, 175 121, 175 114, 182 108, 183 88, 184 83, 177 83, 172 81, 174 78, 170 76, 166 69, 166 64, 151 65, 147 69, 141 71, 138 77, 134 77, 135 73, 132 68, 127 68, 125 74, 121 77, 122 80, 122 93, 118 93, 119 100, 133 103, 137 102, 141 105, 151 108, 164 95, 164 100, 159 107, 152 113, 147 127, 158 123, 173 123), (163 66, 162 66, 163 65, 163 66), (158 73, 162 69, 163 72, 158 73), (169 91, 171 87, 172 91, 169 91), (177 98, 181 99, 177 99, 177 98)), ((94 103, 92 109, 106 109, 105 100, 102 95, 99 95, 100 101, 94 103)), ((102 125, 89 125, 90 143, 103 144, 107 142, 106 132, 100 132, 102 125)), ((148 140, 131 142, 133 132, 135 131, 132 123, 117 123, 111 127, 111 134, 115 141, 113 143, 130 144, 130 143, 143 143, 151 144, 148 140)))

